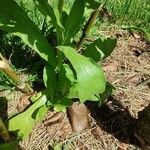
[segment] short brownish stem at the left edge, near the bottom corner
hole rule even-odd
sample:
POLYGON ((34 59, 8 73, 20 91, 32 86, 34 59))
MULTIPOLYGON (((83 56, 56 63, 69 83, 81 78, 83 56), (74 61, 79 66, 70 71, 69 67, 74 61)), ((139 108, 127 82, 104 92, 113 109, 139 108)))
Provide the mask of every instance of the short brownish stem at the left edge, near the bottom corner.
POLYGON ((0 135, 6 142, 10 141, 10 134, 1 117, 0 117, 0 135))

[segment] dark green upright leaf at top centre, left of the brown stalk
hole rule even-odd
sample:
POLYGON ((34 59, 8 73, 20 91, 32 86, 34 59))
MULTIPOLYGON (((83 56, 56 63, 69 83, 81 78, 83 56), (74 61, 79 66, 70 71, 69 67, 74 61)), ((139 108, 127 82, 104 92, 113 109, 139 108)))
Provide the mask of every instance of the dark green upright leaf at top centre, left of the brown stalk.
POLYGON ((75 0, 69 13, 65 26, 65 39, 70 39, 76 35, 81 26, 85 9, 85 0, 75 0))

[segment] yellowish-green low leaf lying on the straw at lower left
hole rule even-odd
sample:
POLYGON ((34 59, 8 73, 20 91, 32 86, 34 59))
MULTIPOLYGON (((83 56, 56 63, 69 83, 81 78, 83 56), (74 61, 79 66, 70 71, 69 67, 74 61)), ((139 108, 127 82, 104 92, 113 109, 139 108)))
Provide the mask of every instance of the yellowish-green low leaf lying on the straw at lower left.
MULTIPOLYGON (((43 95, 39 100, 37 100, 34 104, 32 104, 26 111, 11 118, 8 121, 9 131, 16 132, 18 137, 22 139, 26 138, 30 134, 34 123, 41 120, 38 111, 40 111, 40 108, 43 109, 43 106, 45 105, 46 101, 47 98, 45 95, 43 95)), ((44 112, 46 112, 45 109, 43 110, 44 112)), ((43 116, 44 114, 41 117, 43 116)))

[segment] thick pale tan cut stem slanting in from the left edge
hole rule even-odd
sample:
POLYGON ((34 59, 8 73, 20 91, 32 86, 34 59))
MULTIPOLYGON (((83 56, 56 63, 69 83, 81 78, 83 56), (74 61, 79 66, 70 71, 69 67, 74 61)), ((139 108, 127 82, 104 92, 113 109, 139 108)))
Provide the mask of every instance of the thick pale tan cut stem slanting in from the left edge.
POLYGON ((0 70, 9 76, 22 92, 28 95, 33 92, 33 89, 28 84, 23 82, 16 72, 9 67, 9 64, 6 62, 6 60, 4 60, 4 58, 0 60, 0 70))

